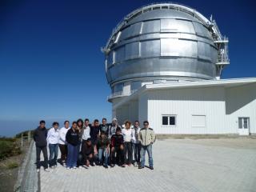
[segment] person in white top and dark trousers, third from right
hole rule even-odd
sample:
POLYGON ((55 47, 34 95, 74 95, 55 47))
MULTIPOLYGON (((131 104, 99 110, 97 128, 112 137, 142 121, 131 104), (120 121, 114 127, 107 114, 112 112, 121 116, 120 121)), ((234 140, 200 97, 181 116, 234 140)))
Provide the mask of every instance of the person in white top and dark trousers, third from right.
POLYGON ((133 160, 133 148, 131 140, 133 139, 133 131, 130 128, 131 122, 126 121, 125 127, 122 129, 122 135, 124 138, 124 153, 126 165, 130 166, 133 160))

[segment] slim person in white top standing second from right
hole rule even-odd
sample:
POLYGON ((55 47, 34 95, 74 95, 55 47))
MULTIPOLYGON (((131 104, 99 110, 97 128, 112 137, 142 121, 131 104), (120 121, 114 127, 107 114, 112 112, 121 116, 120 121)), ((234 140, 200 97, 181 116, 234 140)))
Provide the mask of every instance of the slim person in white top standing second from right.
POLYGON ((141 153, 141 143, 138 140, 138 134, 141 128, 139 127, 139 122, 134 122, 134 128, 133 131, 133 139, 132 139, 132 146, 134 151, 134 166, 137 166, 140 164, 140 153, 141 153))

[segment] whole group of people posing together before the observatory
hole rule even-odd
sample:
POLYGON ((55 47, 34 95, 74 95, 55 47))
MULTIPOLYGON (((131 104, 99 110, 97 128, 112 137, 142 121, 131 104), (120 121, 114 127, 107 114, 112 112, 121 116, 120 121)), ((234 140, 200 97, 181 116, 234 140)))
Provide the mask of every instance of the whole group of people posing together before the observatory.
POLYGON ((42 151, 44 170, 57 166, 58 148, 61 151, 60 163, 66 169, 76 169, 79 166, 145 166, 145 154, 149 156, 149 166, 153 167, 152 144, 155 142, 154 130, 149 122, 144 121, 140 128, 138 121, 132 124, 126 121, 119 126, 117 118, 107 123, 102 118, 102 123, 95 119, 92 124, 88 118, 83 121, 64 122, 59 128, 59 123, 54 122, 53 127, 46 130, 46 122, 40 121, 34 130, 34 142, 37 155, 37 171, 40 171, 40 154, 42 151), (71 126, 71 127, 70 127, 71 126), (48 160, 47 146, 50 150, 48 160))

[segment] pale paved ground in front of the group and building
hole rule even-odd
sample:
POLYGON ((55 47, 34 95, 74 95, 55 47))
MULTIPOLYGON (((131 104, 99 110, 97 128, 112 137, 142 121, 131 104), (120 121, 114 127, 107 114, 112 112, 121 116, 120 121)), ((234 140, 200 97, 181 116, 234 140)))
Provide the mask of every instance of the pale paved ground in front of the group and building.
POLYGON ((41 191, 256 191, 256 139, 158 140, 153 150, 154 170, 42 170, 41 191))

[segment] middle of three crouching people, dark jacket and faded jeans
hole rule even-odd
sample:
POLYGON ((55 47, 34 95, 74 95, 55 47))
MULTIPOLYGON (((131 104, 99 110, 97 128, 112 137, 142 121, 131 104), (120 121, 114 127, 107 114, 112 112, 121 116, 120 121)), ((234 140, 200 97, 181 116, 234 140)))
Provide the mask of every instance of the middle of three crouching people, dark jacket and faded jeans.
POLYGON ((99 161, 99 164, 102 165, 102 156, 104 154, 103 166, 105 168, 108 168, 107 160, 109 158, 110 141, 109 141, 108 137, 106 136, 105 131, 102 131, 100 137, 98 138, 97 147, 98 147, 98 161, 99 161))

